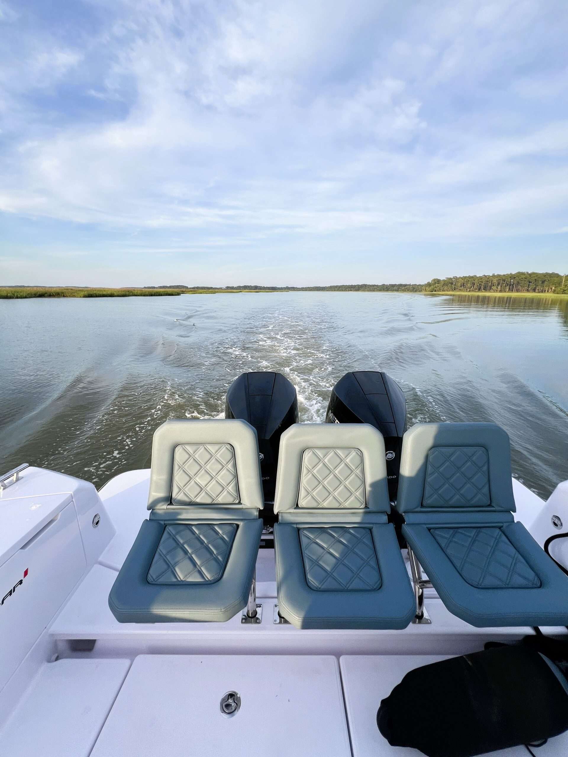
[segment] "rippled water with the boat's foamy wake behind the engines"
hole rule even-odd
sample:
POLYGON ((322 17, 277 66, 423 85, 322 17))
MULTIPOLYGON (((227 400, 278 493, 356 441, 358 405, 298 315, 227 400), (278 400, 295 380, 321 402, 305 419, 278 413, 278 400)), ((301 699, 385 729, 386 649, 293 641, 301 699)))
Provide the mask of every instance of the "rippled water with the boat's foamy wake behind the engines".
POLYGON ((349 370, 404 389, 409 425, 495 421, 541 496, 568 478, 568 303, 311 293, 0 300, 0 469, 149 466, 168 418, 214 418, 239 373, 277 370, 322 421, 349 370))

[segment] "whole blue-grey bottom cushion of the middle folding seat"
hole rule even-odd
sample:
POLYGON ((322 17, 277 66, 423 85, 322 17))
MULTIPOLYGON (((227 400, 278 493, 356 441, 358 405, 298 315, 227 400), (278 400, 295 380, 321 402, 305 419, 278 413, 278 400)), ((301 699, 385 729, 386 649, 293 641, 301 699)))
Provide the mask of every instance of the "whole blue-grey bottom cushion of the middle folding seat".
POLYGON ((392 525, 277 523, 274 542, 279 610, 296 628, 400 629, 414 617, 392 525))

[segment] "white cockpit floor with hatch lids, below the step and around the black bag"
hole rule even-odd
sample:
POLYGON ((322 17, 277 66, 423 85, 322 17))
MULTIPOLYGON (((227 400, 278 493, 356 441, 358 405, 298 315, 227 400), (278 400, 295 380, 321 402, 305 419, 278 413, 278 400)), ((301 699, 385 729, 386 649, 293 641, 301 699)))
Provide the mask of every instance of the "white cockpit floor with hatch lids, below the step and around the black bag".
MULTIPOLYGON (((416 749, 389 745, 376 727, 376 710, 404 674, 445 657, 60 659, 42 666, 5 723, 0 753, 217 757, 253 749, 267 757, 418 757, 416 749), (231 690, 242 703, 227 717, 220 699, 231 690)), ((566 753, 568 734, 538 750, 541 757, 566 753)), ((528 752, 517 746, 492 754, 526 757, 528 752)))

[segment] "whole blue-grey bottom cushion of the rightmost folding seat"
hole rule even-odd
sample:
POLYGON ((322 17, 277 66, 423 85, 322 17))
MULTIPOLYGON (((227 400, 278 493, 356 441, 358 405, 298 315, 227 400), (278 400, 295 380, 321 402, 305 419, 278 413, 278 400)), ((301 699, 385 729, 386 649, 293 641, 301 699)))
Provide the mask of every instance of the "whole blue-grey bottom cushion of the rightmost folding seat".
POLYGON ((568 624, 568 576, 522 523, 404 525, 446 607, 478 628, 568 624))

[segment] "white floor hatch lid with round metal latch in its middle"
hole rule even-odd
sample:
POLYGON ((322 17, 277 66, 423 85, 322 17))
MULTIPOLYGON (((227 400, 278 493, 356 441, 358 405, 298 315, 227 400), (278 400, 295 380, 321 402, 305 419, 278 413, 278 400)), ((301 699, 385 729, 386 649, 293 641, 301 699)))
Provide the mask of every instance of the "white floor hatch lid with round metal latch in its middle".
POLYGON ((136 657, 91 757, 351 757, 327 656, 136 657), (221 712, 223 695, 241 705, 221 712))

